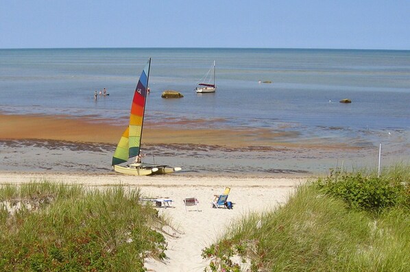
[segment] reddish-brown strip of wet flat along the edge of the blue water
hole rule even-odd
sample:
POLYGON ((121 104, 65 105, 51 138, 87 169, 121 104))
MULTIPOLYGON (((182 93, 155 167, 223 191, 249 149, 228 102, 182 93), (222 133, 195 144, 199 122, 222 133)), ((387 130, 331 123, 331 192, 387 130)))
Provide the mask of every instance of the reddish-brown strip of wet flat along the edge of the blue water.
MULTIPOLYGON (((0 114, 0 139, 2 140, 65 140, 71 142, 117 144, 126 123, 113 125, 112 120, 73 118, 69 116, 32 116, 0 114)), ((311 147, 323 149, 357 149, 346 144, 324 145, 308 143, 298 138, 298 132, 273 132, 267 128, 197 128, 192 123, 147 123, 144 124, 143 144, 218 145, 221 147, 311 147), (173 128, 173 125, 176 128, 173 128), (185 128, 187 127, 187 128, 185 128)), ((204 125, 206 127, 206 125, 204 125)))

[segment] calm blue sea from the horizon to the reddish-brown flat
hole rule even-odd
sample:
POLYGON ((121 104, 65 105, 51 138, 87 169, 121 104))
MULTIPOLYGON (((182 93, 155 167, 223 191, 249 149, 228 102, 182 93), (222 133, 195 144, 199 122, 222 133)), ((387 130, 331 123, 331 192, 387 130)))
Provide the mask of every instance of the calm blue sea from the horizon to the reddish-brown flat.
POLYGON ((0 49, 0 110, 126 120, 149 57, 151 121, 219 119, 216 125, 281 127, 305 138, 366 134, 369 143, 389 132, 409 147, 410 51, 0 49), (197 95, 214 60, 217 92, 197 95), (110 96, 95 101, 103 88, 110 96), (184 98, 162 99, 167 89, 184 98), (339 103, 345 98, 352 103, 339 103))

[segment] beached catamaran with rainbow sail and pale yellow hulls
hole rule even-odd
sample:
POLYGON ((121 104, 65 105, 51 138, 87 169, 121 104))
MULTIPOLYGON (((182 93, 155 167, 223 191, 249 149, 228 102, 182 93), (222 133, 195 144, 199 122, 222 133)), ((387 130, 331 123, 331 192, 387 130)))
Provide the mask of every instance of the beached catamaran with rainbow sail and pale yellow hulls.
POLYGON ((112 168, 114 171, 125 175, 168 174, 181 170, 180 167, 141 162, 141 135, 143 133, 150 66, 151 58, 149 58, 138 79, 138 84, 136 84, 131 104, 130 123, 119 140, 114 156, 112 156, 112 168), (130 158, 135 158, 134 162, 126 166, 119 165, 128 162, 130 158))

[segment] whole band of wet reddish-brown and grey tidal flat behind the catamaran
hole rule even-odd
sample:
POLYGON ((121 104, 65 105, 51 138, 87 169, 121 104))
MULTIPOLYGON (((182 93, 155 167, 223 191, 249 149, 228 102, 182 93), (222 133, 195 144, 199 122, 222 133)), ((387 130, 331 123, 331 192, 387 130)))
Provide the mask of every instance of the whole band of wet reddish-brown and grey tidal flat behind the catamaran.
MULTIPOLYGON (((0 171, 109 173, 126 122, 114 125, 110 119, 92 116, 0 114, 0 171)), ((182 166, 189 173, 224 175, 311 175, 341 165, 356 169, 377 165, 374 145, 304 139, 300 132, 286 129, 204 127, 204 120, 147 121, 144 161, 182 166)), ((400 141, 386 150, 385 162, 409 158, 409 149, 400 141)))

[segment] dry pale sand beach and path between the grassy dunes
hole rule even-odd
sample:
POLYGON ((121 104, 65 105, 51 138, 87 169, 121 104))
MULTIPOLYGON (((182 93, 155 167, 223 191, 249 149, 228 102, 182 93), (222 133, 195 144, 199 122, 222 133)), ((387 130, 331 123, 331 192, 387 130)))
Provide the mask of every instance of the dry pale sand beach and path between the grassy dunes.
POLYGON ((202 249, 213 243, 231 223, 250 212, 262 212, 285 203, 287 196, 306 178, 286 177, 224 177, 200 175, 162 175, 152 177, 128 177, 124 175, 68 175, 64 173, 0 173, 0 184, 52 180, 85 186, 123 185, 141 188, 146 197, 171 199, 170 208, 157 208, 171 221, 175 230, 165 229, 168 249, 163 262, 147 260, 148 271, 204 271, 206 260, 202 249), (231 188, 229 201, 234 208, 212 208, 214 195, 231 188), (183 199, 195 197, 198 206, 184 207, 183 199), (197 211, 197 208, 199 211, 197 211))

